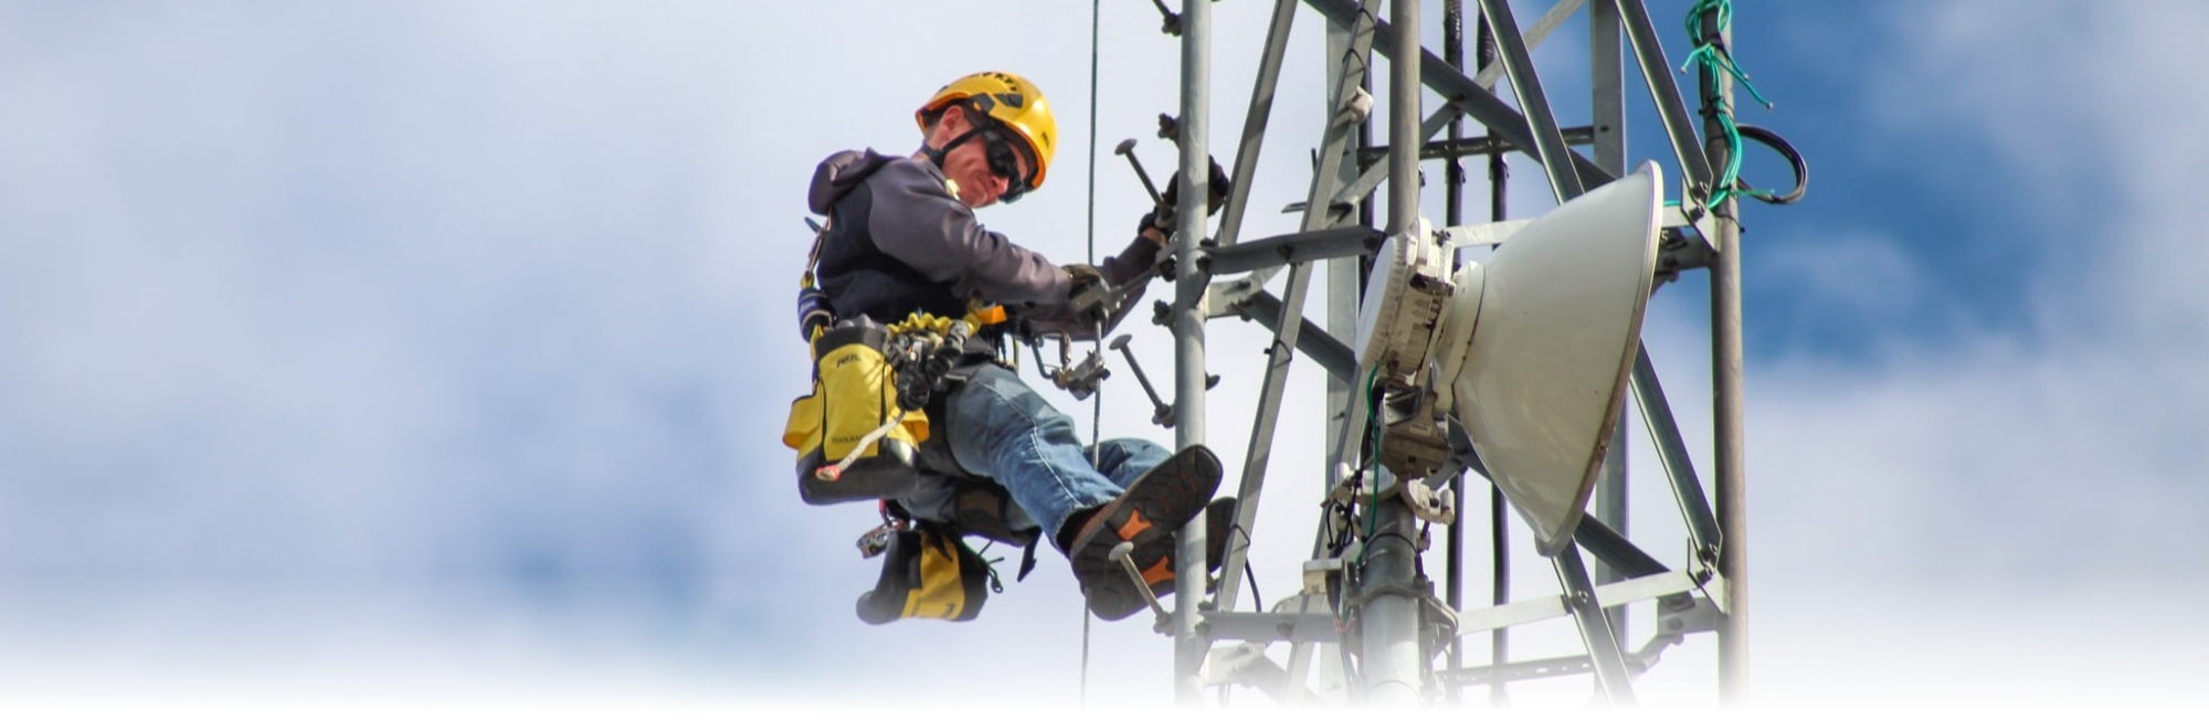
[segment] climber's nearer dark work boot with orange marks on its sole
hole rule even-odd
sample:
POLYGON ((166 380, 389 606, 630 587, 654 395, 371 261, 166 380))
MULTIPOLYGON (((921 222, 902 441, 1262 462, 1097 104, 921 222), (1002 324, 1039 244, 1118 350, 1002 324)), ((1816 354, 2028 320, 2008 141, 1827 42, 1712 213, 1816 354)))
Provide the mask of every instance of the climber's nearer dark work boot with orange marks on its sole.
MULTIPOLYGON (((1067 546, 1074 577, 1080 579, 1082 593, 1089 597, 1089 613, 1118 621, 1146 606, 1142 588, 1135 588, 1127 571, 1111 560, 1111 548, 1122 542, 1135 544, 1135 551, 1129 553, 1135 568, 1162 568, 1166 584, 1171 584, 1173 531, 1197 518, 1215 491, 1219 491, 1219 456, 1193 445, 1144 471, 1120 498, 1089 515, 1082 531, 1074 535, 1074 544, 1067 546)), ((1144 577, 1149 579, 1151 573, 1144 577)))

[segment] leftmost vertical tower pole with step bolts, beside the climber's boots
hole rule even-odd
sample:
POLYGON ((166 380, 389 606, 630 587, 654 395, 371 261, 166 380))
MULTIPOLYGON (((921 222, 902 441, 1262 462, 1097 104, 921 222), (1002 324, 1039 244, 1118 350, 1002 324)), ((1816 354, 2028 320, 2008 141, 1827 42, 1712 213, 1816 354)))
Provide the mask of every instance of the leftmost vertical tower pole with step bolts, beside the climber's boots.
MULTIPOLYGON (((1197 270, 1197 241, 1204 239, 1206 199, 1211 197, 1211 153, 1204 137, 1211 124, 1211 2, 1186 2, 1182 7, 1182 208, 1175 208, 1175 307, 1173 318, 1173 436, 1175 447, 1204 442, 1204 288, 1211 285, 1197 270)), ((1204 515, 1199 513, 1175 535, 1173 555, 1173 706, 1182 710, 1204 710, 1204 652, 1211 644, 1197 633, 1204 602, 1204 515)))

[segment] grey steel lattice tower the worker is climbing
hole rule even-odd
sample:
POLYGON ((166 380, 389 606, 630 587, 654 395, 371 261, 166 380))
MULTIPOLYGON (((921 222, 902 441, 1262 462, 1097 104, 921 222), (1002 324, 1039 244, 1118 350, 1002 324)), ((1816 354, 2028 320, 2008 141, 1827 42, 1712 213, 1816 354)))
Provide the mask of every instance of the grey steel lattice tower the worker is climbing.
MULTIPOLYGON (((1211 102, 1211 9, 1208 2, 1191 0, 1180 15, 1169 15, 1169 27, 1180 29, 1182 46, 1182 106, 1177 119, 1180 144, 1180 212, 1175 243, 1171 245, 1169 276, 1175 281, 1171 307, 1160 321, 1175 334, 1175 403, 1180 418, 1175 440, 1180 447, 1204 442, 1204 323, 1211 318, 1237 316, 1257 321, 1272 332, 1272 349, 1264 383, 1259 387, 1255 431, 1250 451, 1239 478, 1239 533, 1255 535, 1255 518, 1266 489, 1268 445, 1279 420, 1281 396, 1288 367, 1297 356, 1328 372, 1330 447, 1325 453, 1328 478, 1339 480, 1332 469, 1343 469, 1359 453, 1356 438, 1345 429, 1365 425, 1365 403, 1356 398, 1354 385, 1359 360, 1343 338, 1356 332, 1361 263, 1372 259, 1381 241, 1407 232, 1418 219, 1418 192, 1396 192, 1394 188, 1418 186, 1420 159, 1451 159, 1451 217, 1454 239, 1507 232, 1504 226, 1458 226, 1458 157, 1500 153, 1522 153, 1540 164, 1542 175, 1560 203, 1582 192, 1604 186, 1626 175, 1626 77, 1630 64, 1641 73, 1650 91, 1650 102, 1661 119, 1663 137, 1672 150, 1681 175, 1668 188, 1679 208, 1668 212, 1657 276, 1681 281, 1701 270, 1710 279, 1712 303, 1712 389, 1714 389, 1714 495, 1716 506, 1705 498, 1703 482, 1688 458, 1688 445, 1672 418, 1670 403, 1657 378, 1646 349, 1632 358, 1630 389, 1626 400, 1639 409, 1641 427, 1648 431, 1657 458, 1661 487, 1668 489, 1685 524, 1688 553, 1679 562, 1661 562, 1643 553, 1628 540, 1626 531, 1626 431, 1630 416, 1619 416, 1619 427, 1608 447, 1602 480, 1586 520, 1573 531, 1571 546, 1555 555, 1560 588, 1531 599, 1498 602, 1495 606, 1460 608, 1456 599, 1442 602, 1436 584, 1418 566, 1414 548, 1416 520, 1414 504, 1431 504, 1427 493, 1412 493, 1414 484, 1429 489, 1460 478, 1465 469, 1480 469, 1460 442, 1458 453, 1447 464, 1447 473, 1423 480, 1381 480, 1378 493, 1365 491, 1363 502, 1374 504, 1374 533, 1363 548, 1365 564, 1359 568, 1356 588, 1336 593, 1343 604, 1359 606, 1354 650, 1363 672, 1363 688, 1354 697, 1370 708, 1438 708, 1454 703, 1465 686, 1500 688, 1504 681, 1537 679, 1557 675, 1590 672, 1597 694, 1590 708, 1637 708, 1632 679, 1659 661, 1659 655, 1681 644, 1694 633, 1714 633, 1719 641, 1719 708, 1747 708, 1747 533, 1743 509, 1743 396, 1741 396, 1741 259, 1736 250, 1738 226, 1732 221, 1732 199, 1710 206, 1716 186, 1712 168, 1725 166, 1725 144, 1708 144, 1705 137, 1723 133, 1705 113, 1705 128, 1694 128, 1690 106, 1674 84, 1672 64, 1663 58, 1650 15, 1641 0, 1560 0, 1533 24, 1522 27, 1507 0, 1478 0, 1482 27, 1493 38, 1493 62, 1484 62, 1467 75, 1451 62, 1418 42, 1423 20, 1418 0, 1387 2, 1387 18, 1381 18, 1381 0, 1277 0, 1268 27, 1264 58, 1259 62, 1255 91, 1248 106, 1244 135, 1235 146, 1237 179, 1219 215, 1215 243, 1199 243, 1206 237, 1206 166, 1208 166, 1208 117, 1211 102), (1299 9, 1314 11, 1328 22, 1328 117, 1323 117, 1323 139, 1319 144, 1317 168, 1303 203, 1301 230, 1283 237, 1239 241, 1239 228, 1248 212, 1248 179, 1257 166, 1257 150, 1264 144, 1272 95, 1281 75, 1281 60, 1288 53, 1292 20, 1299 9), (1590 27, 1590 88, 1593 117, 1586 126, 1560 126, 1542 91, 1542 77, 1531 62, 1529 44, 1546 38, 1560 22, 1575 13, 1588 13, 1590 27), (1412 55, 1412 51, 1418 55, 1412 55), (1405 62, 1416 58, 1418 62, 1405 62), (1381 62, 1376 62, 1381 60, 1381 62), (1372 95, 1363 88, 1374 66, 1385 66, 1389 102, 1385 108, 1372 106, 1372 95), (1515 104, 1507 104, 1491 86, 1509 80, 1515 104), (1442 97, 1438 108, 1423 108, 1425 91, 1442 97), (1460 126, 1460 119, 1478 122, 1484 137, 1462 139, 1456 130, 1436 139, 1445 128, 1460 126), (1385 122, 1385 146, 1361 148, 1361 124, 1385 122), (1575 146, 1588 148, 1582 155, 1575 146), (1705 153, 1705 148, 1712 148, 1705 153), (1387 208, 1381 212, 1383 228, 1372 228, 1359 212, 1381 184, 1392 188, 1387 208), (1681 188, 1683 184, 1683 188, 1681 188), (1325 263, 1325 316, 1314 323, 1303 316, 1306 299, 1312 292, 1312 272, 1325 263), (1266 283, 1286 272, 1279 294, 1266 283), (1215 281, 1215 276, 1219 276, 1215 281), (1294 352, 1286 352, 1294 349, 1294 352), (1378 502, 1372 498, 1378 495, 1378 502), (1586 555, 1586 557, 1584 557, 1586 555), (1595 573, 1588 571, 1595 562, 1595 573), (1624 606, 1632 602, 1655 602, 1657 628, 1639 648, 1628 648, 1630 633, 1624 606), (1610 610, 1610 613, 1606 613, 1610 610), (1507 628, 1553 617, 1573 617, 1586 646, 1584 655, 1562 659, 1522 659, 1489 666, 1460 666, 1460 652, 1451 650, 1458 637, 1493 633, 1495 652, 1502 657, 1502 635, 1507 628), (1438 657, 1451 663, 1438 663, 1438 657)), ((1716 22, 1723 2, 1699 4, 1703 29, 1723 42, 1716 22)), ((1164 11, 1164 7, 1160 7, 1164 11)), ((1454 42, 1462 40, 1456 24, 1462 22, 1456 2, 1445 20, 1451 22, 1454 42)), ((1462 53, 1451 46, 1456 60, 1462 53)), ((1484 53, 1487 46, 1484 46, 1484 53)), ((1699 106, 1730 106, 1732 84, 1727 80, 1705 80, 1699 88, 1699 106)), ((1376 133, 1378 135, 1378 133, 1376 133)), ((1476 484, 1478 487, 1478 484, 1476 484)), ((1332 489, 1339 491, 1339 489, 1332 489)), ((1460 493, 1462 504, 1462 493, 1460 493)), ((1431 509, 1427 509, 1431 513, 1431 509)), ((1500 515, 1498 515, 1500 522, 1500 515)), ((1325 520, 1323 520, 1325 526, 1325 520)), ((1462 515, 1458 524, 1462 526, 1462 515)), ((1456 588, 1462 533, 1449 535, 1451 544, 1451 588, 1456 588)), ((1328 533, 1321 529, 1321 533, 1328 533)), ((1314 542, 1314 548, 1323 548, 1314 542)), ((1204 690, 1219 683, 1257 686, 1281 708, 1341 708, 1341 688, 1312 690, 1308 686, 1314 661, 1332 661, 1336 652, 1314 652, 1319 646, 1345 641, 1323 595, 1294 595, 1264 613, 1233 610, 1237 579, 1248 564, 1244 544, 1228 544, 1228 557, 1219 571, 1219 591, 1208 604, 1202 584, 1204 568, 1204 524, 1193 522, 1180 540, 1177 597, 1173 608, 1175 635, 1175 706, 1202 708, 1204 690), (1228 610, 1217 610, 1228 608, 1228 610), (1268 644, 1292 644, 1288 663, 1264 655, 1268 644)), ((1507 564, 1504 548, 1498 553, 1498 568, 1507 564)), ((1341 560, 1319 560, 1306 566, 1306 575, 1321 586, 1325 579, 1341 582, 1341 560)), ((1308 586, 1314 591, 1317 586, 1308 586)), ((1456 593, 1449 593, 1456 597, 1456 593)), ((1339 666, 1339 663, 1336 663, 1339 666)), ((1336 668, 1336 675, 1341 670, 1336 668)), ((1500 697, 1491 697, 1500 699, 1500 697)))

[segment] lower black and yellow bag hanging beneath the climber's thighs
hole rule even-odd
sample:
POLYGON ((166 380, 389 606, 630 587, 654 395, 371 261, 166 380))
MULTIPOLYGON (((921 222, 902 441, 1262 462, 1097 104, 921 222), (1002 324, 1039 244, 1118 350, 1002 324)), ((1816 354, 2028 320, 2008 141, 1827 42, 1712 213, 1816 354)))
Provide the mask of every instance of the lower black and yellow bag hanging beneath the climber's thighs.
POLYGON ((1003 593, 1005 586, 959 533, 915 524, 890 537, 881 579, 859 595, 859 619, 873 626, 897 619, 972 621, 990 591, 1003 593))

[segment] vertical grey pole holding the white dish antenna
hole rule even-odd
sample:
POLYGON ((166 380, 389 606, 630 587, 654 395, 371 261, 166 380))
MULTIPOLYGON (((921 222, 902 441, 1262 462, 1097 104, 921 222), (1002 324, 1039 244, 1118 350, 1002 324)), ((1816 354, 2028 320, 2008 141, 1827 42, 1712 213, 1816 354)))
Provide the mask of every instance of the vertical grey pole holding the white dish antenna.
MULTIPOLYGON (((1389 22, 1398 49, 1418 46, 1418 0, 1392 0, 1389 22)), ((1387 93, 1387 232, 1394 237, 1412 232, 1418 223, 1418 148, 1425 144, 1425 137, 1418 135, 1418 122, 1425 115, 1420 113, 1423 88, 1416 55, 1398 53, 1389 62, 1387 93)), ((1365 582, 1361 584, 1363 595, 1367 595, 1365 701, 1370 708, 1418 710, 1423 706, 1418 599, 1412 595, 1418 575, 1418 548, 1412 544, 1412 535, 1418 533, 1418 526, 1403 495, 1376 498, 1372 513, 1378 513, 1378 520, 1367 540, 1365 582)))

